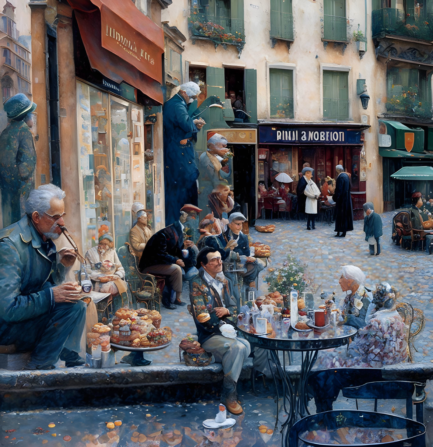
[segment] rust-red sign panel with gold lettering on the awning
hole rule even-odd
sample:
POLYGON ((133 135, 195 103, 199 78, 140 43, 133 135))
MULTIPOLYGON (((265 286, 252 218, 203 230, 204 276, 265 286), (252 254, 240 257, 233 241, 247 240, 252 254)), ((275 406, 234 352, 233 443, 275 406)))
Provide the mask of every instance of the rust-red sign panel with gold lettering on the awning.
POLYGON ((140 28, 144 25, 147 33, 140 32, 142 30, 137 30, 128 23, 127 16, 117 14, 117 11, 113 11, 105 4, 101 5, 101 44, 106 50, 118 55, 140 72, 161 81, 161 54, 164 52, 164 47, 158 46, 154 43, 155 39, 151 40, 147 35, 161 34, 162 30, 155 30, 155 24, 148 17, 140 14, 135 6, 134 9, 136 16, 140 16, 140 20, 143 21, 140 28))

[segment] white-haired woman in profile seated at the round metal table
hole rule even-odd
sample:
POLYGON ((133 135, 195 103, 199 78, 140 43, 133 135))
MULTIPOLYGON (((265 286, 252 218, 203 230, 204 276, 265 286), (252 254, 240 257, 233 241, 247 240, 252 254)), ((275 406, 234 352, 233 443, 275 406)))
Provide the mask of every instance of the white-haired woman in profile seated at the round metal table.
POLYGON ((365 282, 366 275, 359 267, 341 267, 341 278, 338 283, 341 290, 347 294, 343 303, 345 324, 357 329, 366 325, 368 307, 373 301, 373 295, 364 287, 365 282))

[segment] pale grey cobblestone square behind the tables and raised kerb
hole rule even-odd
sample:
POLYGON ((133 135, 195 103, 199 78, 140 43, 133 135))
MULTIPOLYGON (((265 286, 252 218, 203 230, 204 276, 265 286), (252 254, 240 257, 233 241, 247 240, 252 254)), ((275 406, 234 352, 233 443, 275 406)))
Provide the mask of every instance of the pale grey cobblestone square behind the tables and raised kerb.
MULTIPOLYGON (((370 256, 362 231, 363 221, 354 222, 353 232, 345 238, 333 237, 333 225, 317 223, 314 231, 306 230, 305 221, 298 220, 257 220, 257 224, 274 223, 273 233, 259 233, 250 228, 252 242, 264 242, 271 247, 269 265, 259 275, 259 294, 264 295, 268 286, 264 278, 269 269, 281 267, 291 255, 305 266, 309 284, 307 291, 316 296, 322 290, 335 291, 338 299, 345 293, 338 285, 340 267, 353 264, 361 268, 367 277, 367 287, 387 281, 399 291, 399 301, 408 302, 419 308, 425 315, 425 329, 416 336, 412 350, 414 362, 433 362, 433 255, 426 252, 410 252, 393 245, 391 241, 391 220, 395 212, 384 213, 381 254, 370 256)), ((182 301, 189 303, 188 283, 184 284, 182 301)), ((338 301, 337 301, 338 302, 338 301)), ((186 306, 176 310, 161 309, 162 325, 173 329, 172 346, 163 351, 149 352, 146 357, 154 363, 178 363, 178 344, 187 333, 195 333, 193 319, 186 306)), ((117 355, 119 355, 118 353, 117 355)))

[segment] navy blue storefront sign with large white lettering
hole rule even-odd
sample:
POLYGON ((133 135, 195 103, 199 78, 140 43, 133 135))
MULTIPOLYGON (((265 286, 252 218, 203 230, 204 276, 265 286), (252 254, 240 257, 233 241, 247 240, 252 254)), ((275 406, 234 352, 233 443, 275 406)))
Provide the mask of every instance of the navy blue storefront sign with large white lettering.
POLYGON ((361 130, 341 127, 259 127, 260 143, 361 144, 361 130))

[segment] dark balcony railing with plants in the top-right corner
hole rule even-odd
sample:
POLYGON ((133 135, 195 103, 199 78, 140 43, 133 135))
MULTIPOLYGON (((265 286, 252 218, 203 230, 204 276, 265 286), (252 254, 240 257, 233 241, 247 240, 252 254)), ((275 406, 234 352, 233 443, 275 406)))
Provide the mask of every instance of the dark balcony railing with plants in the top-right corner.
POLYGON ((383 8, 371 13, 373 37, 381 33, 433 41, 433 15, 417 14, 414 9, 383 8))

